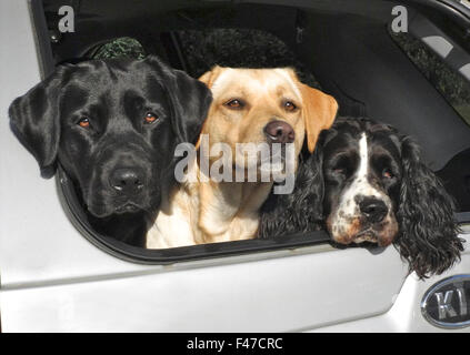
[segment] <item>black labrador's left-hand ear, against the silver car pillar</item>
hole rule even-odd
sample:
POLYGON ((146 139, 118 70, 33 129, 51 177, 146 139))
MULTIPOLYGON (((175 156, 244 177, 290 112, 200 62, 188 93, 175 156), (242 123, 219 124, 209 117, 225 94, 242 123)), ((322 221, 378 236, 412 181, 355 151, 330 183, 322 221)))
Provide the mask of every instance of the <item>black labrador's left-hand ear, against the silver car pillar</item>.
POLYGON ((18 140, 36 158, 41 176, 54 174, 60 141, 59 99, 66 68, 17 98, 9 108, 10 128, 18 140))

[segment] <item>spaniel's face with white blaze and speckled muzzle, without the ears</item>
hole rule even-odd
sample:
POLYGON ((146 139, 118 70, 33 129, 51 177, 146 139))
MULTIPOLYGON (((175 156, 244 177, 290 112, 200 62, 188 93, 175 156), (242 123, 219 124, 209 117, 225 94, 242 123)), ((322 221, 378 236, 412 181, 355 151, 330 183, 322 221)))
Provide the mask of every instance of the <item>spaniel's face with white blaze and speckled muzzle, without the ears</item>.
POLYGON ((323 146, 324 213, 340 244, 391 244, 403 170, 400 140, 387 125, 339 123, 323 146))

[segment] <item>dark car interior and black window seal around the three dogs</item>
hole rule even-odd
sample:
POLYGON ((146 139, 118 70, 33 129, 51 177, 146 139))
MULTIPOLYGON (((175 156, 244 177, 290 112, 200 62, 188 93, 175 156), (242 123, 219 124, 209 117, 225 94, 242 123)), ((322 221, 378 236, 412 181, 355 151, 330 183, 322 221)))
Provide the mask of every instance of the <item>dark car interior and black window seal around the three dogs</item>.
MULTIPOLYGON (((290 3, 43 0, 33 1, 32 10, 43 75, 60 63, 94 58, 100 47, 124 37, 137 40, 146 53, 154 53, 194 78, 216 63, 294 67, 302 81, 338 100, 341 115, 370 116, 414 136, 428 164, 454 196, 457 217, 469 222, 470 114, 467 118, 459 114, 449 98, 410 60, 390 30, 393 7, 407 6, 411 19, 407 36, 418 41, 426 36, 446 38, 457 53, 448 63, 449 70, 456 72, 464 88, 470 88, 468 78, 456 71, 459 63, 470 63, 469 12, 458 4, 449 7, 447 1, 290 3), (76 11, 76 32, 57 30, 58 9, 63 4, 76 11), (220 45, 208 40, 217 31, 224 33, 218 37, 222 39, 220 45), (264 34, 259 38, 259 33, 264 34)), ((439 60, 446 64, 444 59, 439 60)), ((467 104, 470 108, 470 97, 467 104)), ((328 242, 324 232, 314 232, 272 240, 141 250, 93 231, 63 172, 59 171, 57 182, 74 225, 92 243, 133 262, 170 263, 328 242)))

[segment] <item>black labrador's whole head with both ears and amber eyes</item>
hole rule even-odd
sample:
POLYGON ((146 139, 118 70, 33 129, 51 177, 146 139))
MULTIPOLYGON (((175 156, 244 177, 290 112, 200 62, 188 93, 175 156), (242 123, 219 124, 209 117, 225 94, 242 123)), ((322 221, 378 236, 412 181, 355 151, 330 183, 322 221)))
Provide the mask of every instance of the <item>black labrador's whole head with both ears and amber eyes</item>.
POLYGON ((10 106, 11 128, 41 175, 57 160, 104 217, 154 211, 170 183, 178 143, 194 143, 209 89, 154 57, 59 67, 10 106))

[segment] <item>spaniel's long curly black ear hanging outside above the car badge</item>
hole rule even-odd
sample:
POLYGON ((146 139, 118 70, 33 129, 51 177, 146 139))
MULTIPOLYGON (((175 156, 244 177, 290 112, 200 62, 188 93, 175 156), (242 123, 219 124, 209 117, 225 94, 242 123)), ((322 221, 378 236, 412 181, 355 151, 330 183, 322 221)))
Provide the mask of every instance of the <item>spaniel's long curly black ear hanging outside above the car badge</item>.
POLYGON ((420 278, 441 274, 460 260, 463 250, 454 221, 454 204, 441 181, 422 162, 419 146, 401 140, 403 178, 394 244, 420 278))

